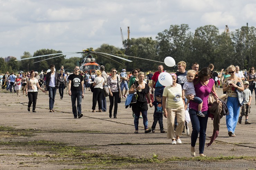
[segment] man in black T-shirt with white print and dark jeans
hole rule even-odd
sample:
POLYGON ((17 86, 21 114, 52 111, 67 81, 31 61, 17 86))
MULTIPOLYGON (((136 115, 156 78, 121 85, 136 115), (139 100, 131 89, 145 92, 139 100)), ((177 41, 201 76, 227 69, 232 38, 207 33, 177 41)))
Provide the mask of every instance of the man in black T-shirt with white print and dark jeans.
POLYGON ((79 74, 79 66, 76 66, 74 69, 74 74, 71 74, 68 77, 68 95, 71 96, 72 101, 72 112, 74 114, 74 119, 81 118, 83 116, 82 114, 82 107, 81 102, 82 98, 84 98, 84 90, 83 90, 83 76, 79 74), (76 102, 77 99, 77 110, 76 110, 76 102))

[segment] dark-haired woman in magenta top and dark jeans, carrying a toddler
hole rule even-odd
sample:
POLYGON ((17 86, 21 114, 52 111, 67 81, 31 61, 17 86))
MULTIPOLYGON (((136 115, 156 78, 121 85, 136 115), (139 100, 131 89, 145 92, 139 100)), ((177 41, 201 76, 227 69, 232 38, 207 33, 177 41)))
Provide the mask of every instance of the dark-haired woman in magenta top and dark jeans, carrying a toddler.
MULTIPOLYGON (((198 138, 199 133, 199 156, 204 157, 204 144, 206 137, 206 128, 207 128, 207 120, 208 120, 208 97, 211 93, 211 90, 216 94, 214 80, 211 78, 211 71, 208 67, 204 67, 197 75, 194 80, 194 87, 196 96, 203 100, 202 113, 205 117, 197 116, 198 112, 198 103, 193 102, 193 96, 186 96, 186 98, 190 99, 189 103, 189 115, 192 123, 192 133, 191 133, 191 148, 190 154, 192 157, 195 156, 195 143, 198 138), (207 86, 205 86, 206 84, 207 86)), ((216 94, 217 95, 217 94, 216 94)), ((214 96, 214 99, 217 102, 218 98, 214 96)))

